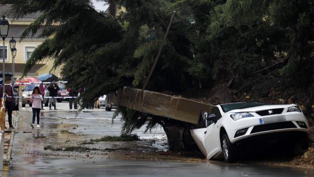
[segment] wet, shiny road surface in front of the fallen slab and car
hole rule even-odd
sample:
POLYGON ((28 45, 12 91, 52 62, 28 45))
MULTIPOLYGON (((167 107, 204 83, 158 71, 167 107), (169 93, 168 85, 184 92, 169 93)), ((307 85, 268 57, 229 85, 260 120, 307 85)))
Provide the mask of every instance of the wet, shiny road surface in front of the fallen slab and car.
MULTIPOLYGON (((144 134, 145 128, 136 131, 145 140, 128 143, 99 143, 86 145, 101 151, 67 152, 44 150, 45 146, 78 146, 78 142, 104 135, 119 135, 119 119, 111 125, 113 112, 87 110, 75 118, 74 111, 43 111, 40 129, 30 126, 30 109, 20 111, 12 160, 3 176, 314 176, 312 169, 225 164, 223 162, 174 162, 168 160, 123 160, 110 154, 110 149, 121 152, 167 151, 165 134, 161 127, 144 134), (67 132, 62 132, 65 130, 67 132), (157 139, 151 141, 151 139, 157 139), (156 143, 159 142, 159 143, 156 143)), ((64 107, 64 109, 62 109, 64 107)))

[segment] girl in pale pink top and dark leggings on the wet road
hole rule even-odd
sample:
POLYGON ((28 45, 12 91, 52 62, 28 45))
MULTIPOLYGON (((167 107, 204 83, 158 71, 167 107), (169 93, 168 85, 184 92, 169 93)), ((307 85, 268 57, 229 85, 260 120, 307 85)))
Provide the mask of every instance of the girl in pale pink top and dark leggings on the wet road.
POLYGON ((32 93, 32 97, 31 97, 32 110, 33 110, 33 122, 31 123, 32 128, 34 128, 36 116, 37 116, 37 128, 40 128, 40 125, 39 125, 40 110, 41 110, 41 102, 43 100, 44 99, 42 97, 39 87, 35 87, 32 93))

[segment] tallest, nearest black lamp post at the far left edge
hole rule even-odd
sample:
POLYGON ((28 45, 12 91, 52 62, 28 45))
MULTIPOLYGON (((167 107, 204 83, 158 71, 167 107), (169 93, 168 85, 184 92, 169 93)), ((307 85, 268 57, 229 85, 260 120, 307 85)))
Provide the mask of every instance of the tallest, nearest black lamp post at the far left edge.
MULTIPOLYGON (((3 39, 3 63, 2 63, 2 84, 5 84, 5 72, 6 72, 6 68, 5 68, 5 39, 7 38, 8 36, 8 32, 9 32, 9 21, 6 19, 6 16, 2 16, 2 20, 0 22, 0 36, 1 38, 3 39)), ((3 97, 4 97, 4 94, 6 93, 6 88, 5 86, 3 87, 3 97)))

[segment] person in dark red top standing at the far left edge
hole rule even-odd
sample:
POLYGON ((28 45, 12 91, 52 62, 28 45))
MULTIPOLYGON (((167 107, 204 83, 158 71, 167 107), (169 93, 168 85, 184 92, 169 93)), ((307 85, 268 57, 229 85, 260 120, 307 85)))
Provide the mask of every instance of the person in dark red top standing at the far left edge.
MULTIPOLYGON (((10 76, 6 76, 5 78, 5 84, 11 84, 11 77, 10 76)), ((3 96, 3 87, 4 85, 1 87, 1 91, 0 91, 0 95, 1 97, 3 96)), ((9 122, 9 126, 10 128, 14 128, 12 125, 12 112, 13 112, 13 106, 14 106, 14 98, 13 98, 13 88, 11 85, 5 85, 5 89, 6 89, 6 93, 5 96, 6 97, 6 112, 8 112, 8 122, 9 122)), ((7 128, 7 127, 5 127, 7 128)))

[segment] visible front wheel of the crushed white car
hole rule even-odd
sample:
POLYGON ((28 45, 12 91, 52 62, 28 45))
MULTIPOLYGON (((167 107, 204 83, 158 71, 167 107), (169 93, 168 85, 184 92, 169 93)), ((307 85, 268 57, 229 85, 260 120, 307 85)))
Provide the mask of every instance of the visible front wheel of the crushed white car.
POLYGON ((235 162, 237 159, 237 147, 230 142, 226 133, 222 135, 220 143, 224 161, 229 163, 235 162))

